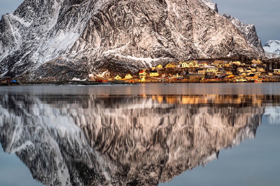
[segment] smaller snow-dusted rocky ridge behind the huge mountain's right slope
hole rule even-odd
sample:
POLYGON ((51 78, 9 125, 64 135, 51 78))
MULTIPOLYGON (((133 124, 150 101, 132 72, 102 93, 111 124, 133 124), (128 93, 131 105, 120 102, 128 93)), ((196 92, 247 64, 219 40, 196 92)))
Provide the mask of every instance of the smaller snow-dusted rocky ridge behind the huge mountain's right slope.
POLYGON ((240 30, 240 32, 244 35, 244 38, 248 42, 248 44, 260 55, 266 56, 264 49, 262 48, 262 42, 257 35, 255 25, 245 25, 241 23, 239 19, 232 17, 231 15, 223 15, 230 22, 240 30))

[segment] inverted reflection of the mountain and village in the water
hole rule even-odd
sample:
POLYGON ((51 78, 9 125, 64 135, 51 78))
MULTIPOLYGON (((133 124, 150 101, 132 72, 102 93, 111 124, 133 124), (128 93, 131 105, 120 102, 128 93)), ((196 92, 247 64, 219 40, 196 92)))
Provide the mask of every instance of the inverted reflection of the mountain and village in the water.
POLYGON ((4 151, 15 153, 45 185, 170 181, 217 159, 220 149, 254 138, 265 109, 280 105, 273 95, 0 99, 4 151))

